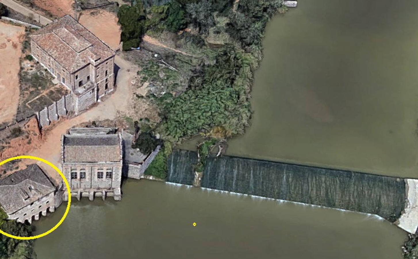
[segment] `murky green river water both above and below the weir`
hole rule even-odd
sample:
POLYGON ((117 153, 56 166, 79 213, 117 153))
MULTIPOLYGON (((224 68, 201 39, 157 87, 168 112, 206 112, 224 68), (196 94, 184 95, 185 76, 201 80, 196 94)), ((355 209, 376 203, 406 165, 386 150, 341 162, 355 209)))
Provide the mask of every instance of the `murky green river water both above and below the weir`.
MULTIPOLYGON (((228 154, 418 177, 417 11, 409 0, 301 0, 273 18, 252 126, 228 154)), ((369 214, 145 180, 122 190, 121 202, 74 201, 36 241, 38 258, 402 258, 405 231, 369 214)))

